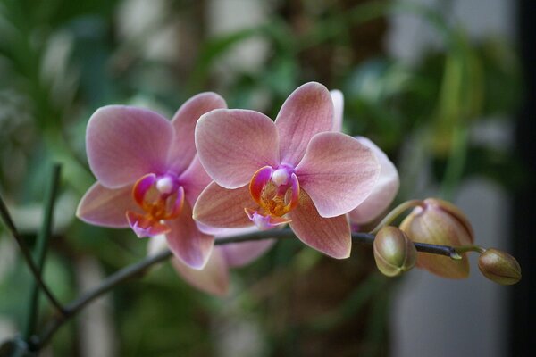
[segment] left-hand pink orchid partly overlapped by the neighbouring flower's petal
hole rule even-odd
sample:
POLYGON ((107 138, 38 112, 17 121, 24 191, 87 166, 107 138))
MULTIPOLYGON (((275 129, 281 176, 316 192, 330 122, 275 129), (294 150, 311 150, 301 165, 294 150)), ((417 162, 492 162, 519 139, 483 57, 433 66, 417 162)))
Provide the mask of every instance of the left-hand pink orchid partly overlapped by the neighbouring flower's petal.
POLYGON ((211 179, 197 159, 194 129, 202 114, 225 107, 221 96, 203 93, 171 121, 130 106, 98 109, 86 132, 97 182, 82 197, 77 216, 97 226, 130 227, 138 237, 164 234, 181 262, 203 268, 214 237, 197 228, 192 207, 211 179))

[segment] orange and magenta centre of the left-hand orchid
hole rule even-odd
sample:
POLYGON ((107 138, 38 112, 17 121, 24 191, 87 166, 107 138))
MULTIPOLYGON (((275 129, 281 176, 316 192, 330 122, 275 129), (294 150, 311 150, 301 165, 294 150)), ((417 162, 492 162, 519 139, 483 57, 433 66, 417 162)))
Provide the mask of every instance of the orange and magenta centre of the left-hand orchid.
POLYGON ((130 228, 138 237, 153 237, 171 231, 165 220, 180 215, 184 188, 172 174, 149 173, 134 184, 132 198, 143 213, 127 211, 130 228))

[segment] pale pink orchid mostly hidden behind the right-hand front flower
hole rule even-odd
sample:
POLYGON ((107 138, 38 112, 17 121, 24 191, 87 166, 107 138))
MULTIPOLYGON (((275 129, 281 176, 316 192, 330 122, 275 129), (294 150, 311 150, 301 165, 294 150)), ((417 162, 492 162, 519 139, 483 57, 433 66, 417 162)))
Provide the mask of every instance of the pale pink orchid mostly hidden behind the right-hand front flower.
MULTIPOLYGON (((344 108, 344 96, 339 90, 331 91, 331 99, 334 106, 334 120, 333 131, 342 130, 343 108, 344 108)), ((393 202, 395 196, 398 193, 398 187, 400 186, 400 180, 398 179, 398 170, 389 160, 389 157, 381 151, 378 145, 375 145, 370 139, 366 137, 356 137, 361 144, 367 146, 376 155, 378 162, 380 162, 380 177, 373 187, 372 193, 359 204, 350 215, 350 222, 353 225, 360 226, 378 218, 381 213, 385 212, 390 203, 393 202)))

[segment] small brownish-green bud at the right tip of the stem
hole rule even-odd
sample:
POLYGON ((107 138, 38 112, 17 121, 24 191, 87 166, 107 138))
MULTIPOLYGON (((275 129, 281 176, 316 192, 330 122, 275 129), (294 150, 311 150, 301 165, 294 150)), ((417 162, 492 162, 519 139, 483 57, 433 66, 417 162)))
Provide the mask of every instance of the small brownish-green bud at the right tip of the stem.
POLYGON ((484 277, 500 285, 513 285, 521 280, 521 267, 515 258, 495 248, 486 250, 478 259, 484 277))

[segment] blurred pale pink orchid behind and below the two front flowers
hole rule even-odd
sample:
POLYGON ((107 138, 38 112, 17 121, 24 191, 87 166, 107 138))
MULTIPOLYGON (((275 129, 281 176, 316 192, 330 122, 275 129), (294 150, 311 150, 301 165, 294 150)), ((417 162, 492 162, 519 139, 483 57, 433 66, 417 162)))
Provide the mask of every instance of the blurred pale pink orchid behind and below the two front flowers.
MULTIPOLYGON (((256 228, 222 229, 216 240, 222 237, 252 233, 256 228)), ((188 284, 205 293, 225 296, 229 294, 230 268, 238 268, 255 261, 275 243, 273 239, 216 245, 203 270, 195 270, 178 259, 172 259, 173 268, 188 284)), ((165 237, 157 236, 149 241, 148 253, 155 254, 166 248, 165 237)))

